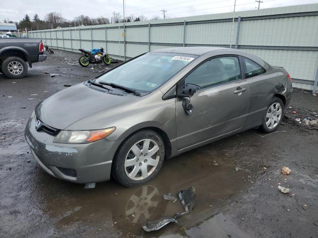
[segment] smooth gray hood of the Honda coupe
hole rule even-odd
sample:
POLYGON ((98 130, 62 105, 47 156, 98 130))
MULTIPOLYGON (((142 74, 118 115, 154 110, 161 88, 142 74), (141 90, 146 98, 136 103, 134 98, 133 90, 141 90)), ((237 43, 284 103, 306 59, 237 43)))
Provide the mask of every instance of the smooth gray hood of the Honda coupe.
POLYGON ((35 115, 45 124, 57 129, 65 129, 72 123, 97 112, 116 107, 134 99, 128 95, 115 95, 94 90, 79 83, 62 90, 35 108, 35 115))

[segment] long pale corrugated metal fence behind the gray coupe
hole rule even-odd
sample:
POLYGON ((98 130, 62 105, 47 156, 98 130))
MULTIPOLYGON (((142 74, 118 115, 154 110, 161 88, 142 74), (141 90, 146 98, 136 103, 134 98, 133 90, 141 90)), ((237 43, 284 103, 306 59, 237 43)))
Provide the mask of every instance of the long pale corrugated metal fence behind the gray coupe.
POLYGON ((118 23, 31 31, 29 36, 68 51, 103 47, 122 60, 168 47, 232 45, 284 66, 294 87, 317 86, 318 4, 236 12, 234 24, 232 18, 230 12, 128 22, 125 28, 118 23))

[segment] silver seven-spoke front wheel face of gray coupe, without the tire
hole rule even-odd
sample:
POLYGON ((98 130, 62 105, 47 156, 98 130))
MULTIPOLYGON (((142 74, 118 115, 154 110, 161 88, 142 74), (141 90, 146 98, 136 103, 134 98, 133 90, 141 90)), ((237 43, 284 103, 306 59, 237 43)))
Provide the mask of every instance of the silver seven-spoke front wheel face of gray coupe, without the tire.
POLYGON ((142 180, 149 177, 159 163, 160 149, 152 139, 143 139, 134 144, 125 159, 125 173, 128 178, 142 180))

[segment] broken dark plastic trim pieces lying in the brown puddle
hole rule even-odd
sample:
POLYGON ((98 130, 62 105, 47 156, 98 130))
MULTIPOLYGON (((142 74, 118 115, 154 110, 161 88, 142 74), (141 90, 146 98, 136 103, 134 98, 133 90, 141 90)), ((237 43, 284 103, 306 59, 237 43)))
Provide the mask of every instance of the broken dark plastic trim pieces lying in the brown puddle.
MULTIPOLYGON (((171 223, 171 222, 177 222, 176 219, 184 214, 187 214, 189 212, 191 212, 193 206, 194 206, 194 203, 195 203, 195 200, 196 200, 196 193, 195 193, 195 188, 194 187, 189 187, 188 189, 186 190, 181 190, 181 191, 178 191, 177 192, 177 195, 179 197, 179 200, 182 204, 182 206, 184 207, 184 212, 178 212, 176 213, 174 216, 164 216, 156 221, 152 221, 152 222, 149 222, 147 223, 147 225, 144 225, 143 226, 143 229, 146 231, 146 232, 151 232, 151 231, 157 231, 159 230, 160 228, 164 227, 165 225, 171 223)), ((170 200, 170 198, 172 198, 173 196, 171 196, 170 194, 166 195, 164 194, 163 195, 163 198, 166 199, 166 200, 170 200), (169 198, 169 199, 166 199, 166 198, 169 198)), ((173 197, 175 198, 175 197, 173 197)), ((176 199, 176 198, 175 198, 176 199)))

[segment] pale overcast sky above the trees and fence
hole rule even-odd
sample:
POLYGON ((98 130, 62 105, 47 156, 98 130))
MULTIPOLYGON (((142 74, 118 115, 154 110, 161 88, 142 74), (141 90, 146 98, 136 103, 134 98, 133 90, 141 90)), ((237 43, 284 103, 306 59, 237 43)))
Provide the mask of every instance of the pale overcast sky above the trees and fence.
MULTIPOLYGON (((125 16, 144 15, 166 18, 195 16, 222 12, 231 12, 235 0, 125 0, 125 16)), ((260 9, 318 3, 318 0, 262 0, 260 9)), ((236 0, 236 11, 256 10, 255 0, 236 0)), ((123 15, 123 0, 0 0, 0 21, 20 21, 25 14, 33 17, 37 13, 40 19, 50 11, 61 12, 63 17, 72 20, 79 15, 95 18, 110 18, 113 11, 123 15)))

